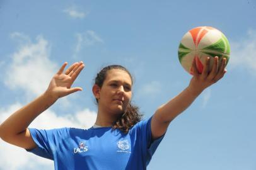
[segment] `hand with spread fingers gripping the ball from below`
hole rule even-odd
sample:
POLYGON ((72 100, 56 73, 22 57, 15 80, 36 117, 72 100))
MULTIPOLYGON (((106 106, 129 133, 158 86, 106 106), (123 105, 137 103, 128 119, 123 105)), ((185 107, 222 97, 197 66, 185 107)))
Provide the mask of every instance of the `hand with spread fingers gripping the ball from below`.
POLYGON ((218 82, 226 73, 226 58, 223 58, 221 63, 219 63, 218 56, 214 57, 214 64, 211 72, 209 72, 209 62, 210 59, 208 57, 204 63, 204 70, 202 71, 202 74, 197 71, 195 60, 192 62, 192 71, 194 76, 190 81, 189 89, 196 94, 200 94, 204 89, 218 82))

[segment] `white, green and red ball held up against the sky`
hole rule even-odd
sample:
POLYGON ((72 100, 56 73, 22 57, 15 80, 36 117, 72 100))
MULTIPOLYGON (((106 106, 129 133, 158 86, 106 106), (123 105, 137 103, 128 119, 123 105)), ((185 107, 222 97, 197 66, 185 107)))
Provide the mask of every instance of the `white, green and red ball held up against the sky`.
POLYGON ((185 71, 190 74, 194 59, 197 70, 202 73, 207 57, 210 58, 209 71, 211 71, 215 56, 219 57, 219 63, 226 58, 226 65, 230 59, 230 43, 216 28, 199 26, 187 31, 182 37, 178 47, 178 59, 185 71))

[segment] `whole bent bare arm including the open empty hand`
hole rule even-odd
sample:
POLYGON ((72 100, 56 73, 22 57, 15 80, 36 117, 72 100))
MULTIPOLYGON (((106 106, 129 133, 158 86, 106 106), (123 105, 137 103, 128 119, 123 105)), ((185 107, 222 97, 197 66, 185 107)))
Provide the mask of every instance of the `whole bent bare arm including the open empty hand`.
POLYGON ((83 62, 74 63, 63 73, 66 65, 67 63, 65 62, 57 74, 54 75, 45 93, 20 108, 20 110, 15 111, 0 125, 1 139, 24 149, 36 147, 28 130, 28 125, 40 113, 53 105, 57 99, 82 90, 81 88, 71 88, 71 85, 83 69, 83 62))

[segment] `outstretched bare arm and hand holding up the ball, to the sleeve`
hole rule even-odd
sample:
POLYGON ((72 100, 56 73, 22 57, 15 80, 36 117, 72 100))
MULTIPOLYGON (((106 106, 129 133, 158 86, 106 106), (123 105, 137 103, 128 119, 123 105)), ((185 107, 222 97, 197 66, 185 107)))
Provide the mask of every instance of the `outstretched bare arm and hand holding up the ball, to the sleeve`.
POLYGON ((208 57, 204 63, 204 70, 202 74, 199 74, 195 65, 195 60, 193 61, 192 70, 194 76, 192 77, 189 86, 178 94, 178 96, 175 96, 175 98, 168 101, 168 103, 161 105, 154 113, 151 120, 151 133, 153 140, 161 137, 166 132, 170 122, 182 113, 182 111, 187 109, 193 103, 195 98, 204 91, 204 89, 219 81, 219 79, 224 76, 226 73, 226 69, 224 69, 226 59, 223 58, 221 65, 219 67, 218 65, 218 57, 214 57, 214 64, 211 72, 209 72, 208 57))

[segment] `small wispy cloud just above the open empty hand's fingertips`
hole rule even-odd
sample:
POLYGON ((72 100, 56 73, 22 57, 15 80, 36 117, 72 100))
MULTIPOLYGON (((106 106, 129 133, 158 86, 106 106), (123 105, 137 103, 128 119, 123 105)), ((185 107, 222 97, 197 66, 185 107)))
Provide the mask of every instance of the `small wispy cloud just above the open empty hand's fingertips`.
POLYGON ((81 51, 84 46, 94 45, 95 43, 103 43, 102 38, 100 38, 95 31, 85 31, 84 33, 76 33, 76 47, 74 49, 75 55, 81 51))

